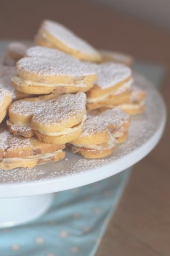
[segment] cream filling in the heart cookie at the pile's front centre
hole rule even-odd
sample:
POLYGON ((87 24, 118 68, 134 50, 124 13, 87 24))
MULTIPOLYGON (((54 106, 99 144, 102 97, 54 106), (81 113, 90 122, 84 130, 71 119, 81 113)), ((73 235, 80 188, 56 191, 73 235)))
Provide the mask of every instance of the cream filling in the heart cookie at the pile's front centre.
POLYGON ((69 135, 69 134, 72 134, 72 133, 76 133, 76 131, 82 129, 86 119, 87 119, 87 117, 86 117, 86 115, 84 115, 82 122, 80 122, 79 125, 77 125, 76 127, 74 127, 74 128, 66 128, 66 129, 64 129, 62 131, 57 131, 55 133, 45 133, 44 131, 41 131, 41 130, 38 130, 38 131, 39 131, 39 133, 45 134, 47 136, 69 135))

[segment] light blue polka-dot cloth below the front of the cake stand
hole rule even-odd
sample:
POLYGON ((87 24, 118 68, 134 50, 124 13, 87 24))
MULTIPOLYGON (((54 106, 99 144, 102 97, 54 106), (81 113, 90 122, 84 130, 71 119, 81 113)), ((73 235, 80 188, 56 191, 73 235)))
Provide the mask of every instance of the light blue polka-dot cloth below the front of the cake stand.
POLYGON ((0 230, 0 255, 94 255, 129 173, 127 169, 109 179, 55 193, 53 205, 41 218, 0 230))

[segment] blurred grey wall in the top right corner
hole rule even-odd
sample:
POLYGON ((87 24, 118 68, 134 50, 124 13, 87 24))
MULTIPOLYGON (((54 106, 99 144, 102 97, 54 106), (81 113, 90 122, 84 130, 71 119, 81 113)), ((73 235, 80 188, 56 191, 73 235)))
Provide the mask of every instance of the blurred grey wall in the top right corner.
POLYGON ((170 0, 90 0, 170 30, 170 0))

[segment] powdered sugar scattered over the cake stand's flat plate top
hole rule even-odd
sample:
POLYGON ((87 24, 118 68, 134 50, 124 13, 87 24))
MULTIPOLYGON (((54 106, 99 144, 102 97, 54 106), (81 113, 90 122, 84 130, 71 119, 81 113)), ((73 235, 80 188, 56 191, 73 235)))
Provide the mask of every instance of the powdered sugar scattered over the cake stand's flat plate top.
MULTIPOLYGON (((41 183, 42 181, 50 182, 50 179, 54 179, 56 191, 58 191, 58 184, 67 180, 69 187, 75 174, 87 173, 88 175, 90 171, 93 172, 94 169, 101 166, 103 166, 103 170, 100 169, 100 172, 105 172, 104 166, 109 163, 112 164, 111 168, 114 169, 114 164, 116 164, 118 159, 124 159, 124 157, 130 156, 132 152, 144 146, 144 143, 148 142, 160 129, 160 125, 164 120, 164 108, 158 92, 150 83, 139 75, 135 75, 134 78, 136 85, 144 89, 147 94, 146 110, 145 113, 132 117, 129 136, 126 142, 122 145, 117 145, 111 156, 103 159, 85 159, 78 154, 67 152, 67 161, 63 159, 59 162, 52 162, 37 166, 36 168, 17 168, 10 171, 1 170, 0 184, 12 183, 13 185, 14 183, 24 182, 24 189, 25 182, 31 181, 33 185, 35 184, 34 188, 36 188, 34 181, 41 183)), ((92 172, 89 175, 89 182, 91 182, 91 176, 93 176, 92 172)), ((98 180, 98 175, 96 180, 98 180)), ((78 186, 79 181, 77 179, 78 186)), ((20 184, 20 187, 22 187, 22 184, 20 184)))

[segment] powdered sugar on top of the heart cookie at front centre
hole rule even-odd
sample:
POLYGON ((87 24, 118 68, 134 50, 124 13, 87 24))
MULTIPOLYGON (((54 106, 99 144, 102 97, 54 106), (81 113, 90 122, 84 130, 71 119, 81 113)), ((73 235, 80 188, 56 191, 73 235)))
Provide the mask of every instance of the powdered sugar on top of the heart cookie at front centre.
POLYGON ((77 94, 59 95, 48 100, 45 97, 41 100, 37 98, 36 101, 20 100, 11 105, 10 113, 25 117, 33 115, 35 122, 45 125, 52 123, 64 125, 68 119, 77 118, 79 113, 85 113, 85 103, 86 95, 84 92, 78 92, 77 94))

